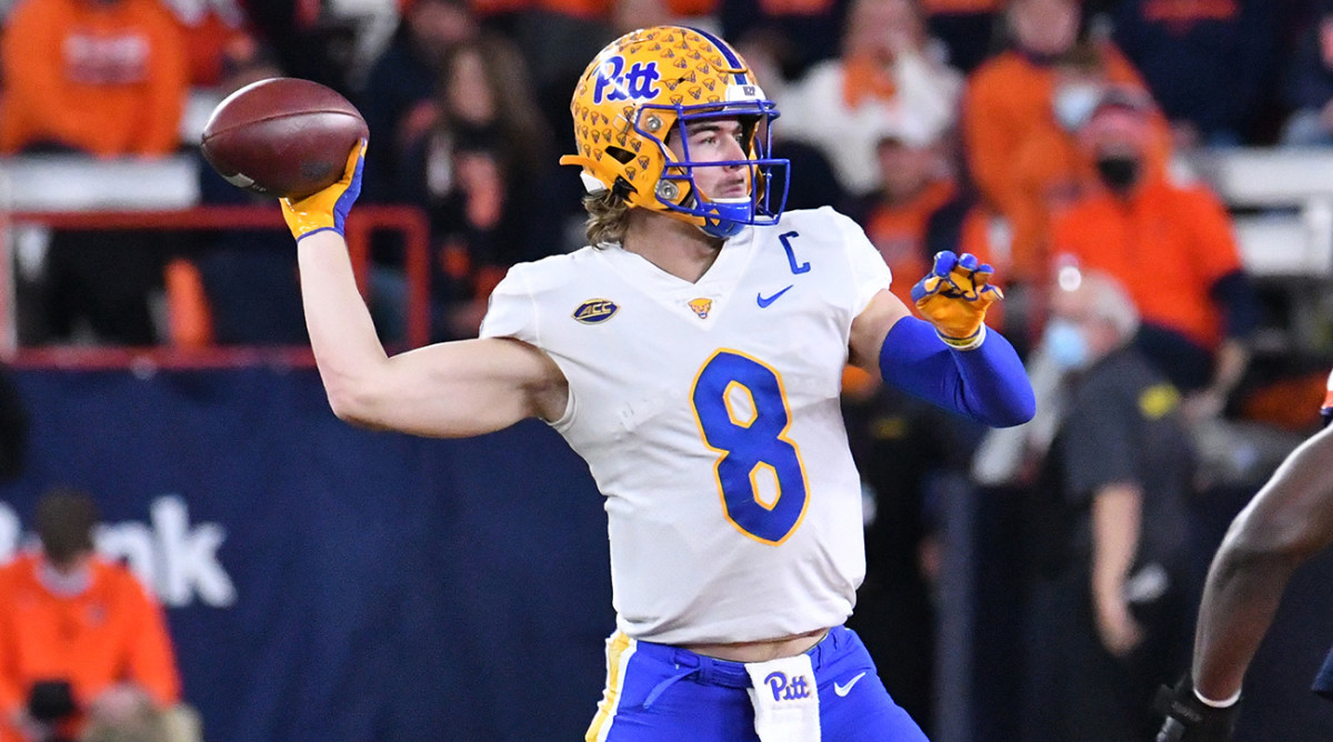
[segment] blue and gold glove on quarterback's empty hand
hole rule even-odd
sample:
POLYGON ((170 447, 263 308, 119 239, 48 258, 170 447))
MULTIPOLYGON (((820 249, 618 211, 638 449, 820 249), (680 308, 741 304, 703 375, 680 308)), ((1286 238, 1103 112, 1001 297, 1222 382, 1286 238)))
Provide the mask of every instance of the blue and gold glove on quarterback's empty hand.
POLYGON ((912 301, 936 334, 957 350, 970 350, 985 340, 986 309, 1004 293, 990 285, 994 268, 978 264, 976 256, 956 256, 949 250, 934 254, 934 266, 912 286, 912 301))

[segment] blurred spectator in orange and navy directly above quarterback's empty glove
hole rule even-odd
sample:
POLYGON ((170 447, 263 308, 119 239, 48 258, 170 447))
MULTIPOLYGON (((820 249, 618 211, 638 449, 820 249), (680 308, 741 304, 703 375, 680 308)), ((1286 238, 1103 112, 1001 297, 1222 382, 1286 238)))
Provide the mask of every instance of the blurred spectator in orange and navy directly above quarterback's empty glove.
POLYGON ((912 285, 930 270, 932 256, 958 249, 966 200, 941 133, 918 120, 905 117, 884 131, 876 155, 881 185, 858 221, 893 272, 893 293, 912 306, 912 285))

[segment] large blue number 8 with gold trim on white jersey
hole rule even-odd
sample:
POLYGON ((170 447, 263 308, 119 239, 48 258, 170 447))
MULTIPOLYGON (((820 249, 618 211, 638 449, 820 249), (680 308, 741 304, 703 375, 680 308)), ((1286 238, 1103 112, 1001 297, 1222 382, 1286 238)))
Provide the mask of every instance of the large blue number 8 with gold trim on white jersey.
POLYGON ((778 545, 801 522, 809 489, 801 452, 789 441, 792 414, 777 372, 736 350, 717 350, 698 370, 692 393, 704 444, 722 456, 713 465, 726 520, 741 533, 778 545), (752 409, 737 409, 733 389, 752 409), (760 498, 754 476, 768 469, 777 481, 772 502, 760 498))

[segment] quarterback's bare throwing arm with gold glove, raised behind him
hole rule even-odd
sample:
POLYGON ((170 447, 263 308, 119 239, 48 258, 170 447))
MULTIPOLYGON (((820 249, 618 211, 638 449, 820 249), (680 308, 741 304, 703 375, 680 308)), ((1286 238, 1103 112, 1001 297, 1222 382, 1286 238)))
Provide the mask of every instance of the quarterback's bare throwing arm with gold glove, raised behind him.
POLYGON ((343 238, 360 190, 363 152, 352 153, 337 184, 283 202, 297 240, 311 348, 335 414, 355 425, 435 437, 477 436, 525 417, 559 418, 568 400, 564 374, 525 342, 465 340, 385 354, 343 238))

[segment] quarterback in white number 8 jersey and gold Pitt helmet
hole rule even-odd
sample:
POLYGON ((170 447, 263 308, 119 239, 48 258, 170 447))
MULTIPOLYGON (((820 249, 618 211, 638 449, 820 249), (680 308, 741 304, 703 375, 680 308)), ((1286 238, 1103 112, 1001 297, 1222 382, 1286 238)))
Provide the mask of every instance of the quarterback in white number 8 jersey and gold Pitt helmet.
POLYGON ((387 357, 341 238, 364 144, 341 183, 284 201, 329 404, 421 436, 539 417, 588 461, 617 627, 587 739, 924 739, 842 626, 865 556, 841 374, 1026 421, 1022 365, 984 324, 990 268, 937 256, 922 321, 850 220, 784 214, 776 107, 709 33, 623 36, 571 111, 589 246, 513 266, 477 340, 387 357))

